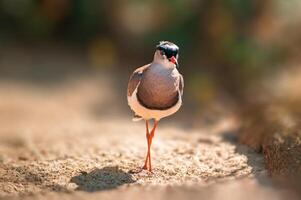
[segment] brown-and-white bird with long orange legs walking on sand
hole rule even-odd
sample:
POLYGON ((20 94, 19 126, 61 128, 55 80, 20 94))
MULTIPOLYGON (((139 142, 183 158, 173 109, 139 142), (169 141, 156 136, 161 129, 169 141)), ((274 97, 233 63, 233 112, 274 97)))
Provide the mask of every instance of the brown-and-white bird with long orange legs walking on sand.
POLYGON ((153 61, 137 68, 130 76, 127 101, 134 112, 133 121, 145 121, 147 154, 142 170, 152 172, 151 145, 162 118, 182 106, 184 79, 178 68, 179 47, 169 41, 156 45, 153 61), (154 125, 149 130, 149 121, 154 125))

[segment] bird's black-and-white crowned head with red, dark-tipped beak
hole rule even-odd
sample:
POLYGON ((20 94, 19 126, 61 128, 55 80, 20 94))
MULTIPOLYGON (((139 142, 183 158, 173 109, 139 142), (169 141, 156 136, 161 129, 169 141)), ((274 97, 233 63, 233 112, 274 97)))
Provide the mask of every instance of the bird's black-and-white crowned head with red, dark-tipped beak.
POLYGON ((156 46, 154 61, 165 62, 178 67, 179 47, 172 42, 160 41, 156 46))

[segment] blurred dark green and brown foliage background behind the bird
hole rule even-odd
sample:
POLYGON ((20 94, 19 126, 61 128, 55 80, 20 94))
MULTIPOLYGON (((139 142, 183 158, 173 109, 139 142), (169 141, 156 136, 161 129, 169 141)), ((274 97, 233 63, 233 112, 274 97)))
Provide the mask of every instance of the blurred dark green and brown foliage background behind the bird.
POLYGON ((1 0, 1 78, 111 71, 125 80, 170 40, 188 107, 240 101, 298 59, 300 9, 298 0, 1 0))

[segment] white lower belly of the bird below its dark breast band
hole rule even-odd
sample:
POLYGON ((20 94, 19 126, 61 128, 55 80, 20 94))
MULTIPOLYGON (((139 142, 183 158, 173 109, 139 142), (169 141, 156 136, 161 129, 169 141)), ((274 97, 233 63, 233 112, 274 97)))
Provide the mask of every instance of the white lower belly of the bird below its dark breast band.
MULTIPOLYGON (((139 86, 139 85, 138 85, 139 86)), ((137 99, 137 88, 134 90, 132 96, 128 96, 128 104, 130 106, 130 108, 139 116, 141 116, 143 119, 145 120, 149 120, 149 119, 155 119, 157 121, 159 121, 160 119, 167 117, 169 115, 174 114, 175 112, 177 112, 181 105, 182 105, 182 98, 181 95, 179 94, 179 100, 178 102, 171 108, 167 109, 167 110, 152 110, 152 109, 148 109, 145 108, 144 106, 142 106, 137 99)))

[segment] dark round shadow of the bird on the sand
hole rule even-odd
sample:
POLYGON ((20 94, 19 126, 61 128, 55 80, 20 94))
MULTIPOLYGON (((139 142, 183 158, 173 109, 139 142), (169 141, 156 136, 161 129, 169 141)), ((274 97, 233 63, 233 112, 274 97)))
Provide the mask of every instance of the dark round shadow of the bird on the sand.
POLYGON ((96 192, 134 183, 135 180, 133 180, 131 174, 118 167, 104 167, 94 169, 89 173, 81 172, 80 175, 72 177, 70 182, 78 185, 77 190, 96 192))

